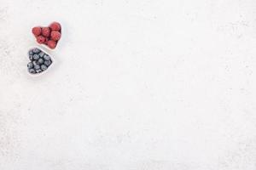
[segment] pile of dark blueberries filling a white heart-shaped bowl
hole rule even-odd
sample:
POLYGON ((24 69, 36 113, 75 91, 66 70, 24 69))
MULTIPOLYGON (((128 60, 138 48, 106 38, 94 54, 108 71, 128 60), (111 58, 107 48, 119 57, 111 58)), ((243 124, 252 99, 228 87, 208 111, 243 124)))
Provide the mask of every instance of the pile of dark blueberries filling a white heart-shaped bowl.
POLYGON ((48 54, 45 54, 39 48, 32 48, 28 51, 28 56, 31 62, 27 64, 27 70, 31 74, 37 74, 46 71, 49 65, 52 64, 48 54))

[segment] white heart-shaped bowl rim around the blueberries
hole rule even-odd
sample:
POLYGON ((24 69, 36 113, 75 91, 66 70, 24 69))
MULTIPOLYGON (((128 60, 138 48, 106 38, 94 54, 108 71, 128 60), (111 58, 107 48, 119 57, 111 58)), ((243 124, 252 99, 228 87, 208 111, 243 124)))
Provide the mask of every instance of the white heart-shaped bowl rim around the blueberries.
MULTIPOLYGON (((29 52, 34 49, 34 48, 38 48, 41 52, 43 52, 44 54, 47 54, 49 55, 50 57, 50 60, 51 60, 51 64, 48 66, 48 68, 45 70, 45 71, 42 71, 42 72, 39 72, 39 73, 35 73, 35 74, 32 74, 28 71, 28 68, 26 68, 26 71, 27 71, 27 74, 30 76, 30 77, 40 77, 44 74, 46 74, 49 70, 51 70, 51 68, 55 65, 55 59, 53 58, 53 56, 48 52, 48 50, 44 49, 44 48, 40 48, 40 47, 31 47, 29 48, 29 50, 27 51, 27 54, 26 54, 26 57, 28 58, 28 63, 32 62, 31 59, 29 59, 29 52)), ((28 64, 27 63, 27 64, 28 64)), ((27 65, 26 65, 27 67, 27 65)))

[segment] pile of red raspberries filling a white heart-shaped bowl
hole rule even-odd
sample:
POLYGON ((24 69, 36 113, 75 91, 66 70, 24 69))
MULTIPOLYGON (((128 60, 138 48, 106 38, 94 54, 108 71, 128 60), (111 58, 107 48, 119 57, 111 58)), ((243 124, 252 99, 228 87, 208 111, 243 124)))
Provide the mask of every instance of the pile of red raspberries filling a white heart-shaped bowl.
POLYGON ((32 33, 37 38, 38 43, 54 49, 61 39, 61 24, 53 22, 48 27, 36 26, 32 28, 32 33))

